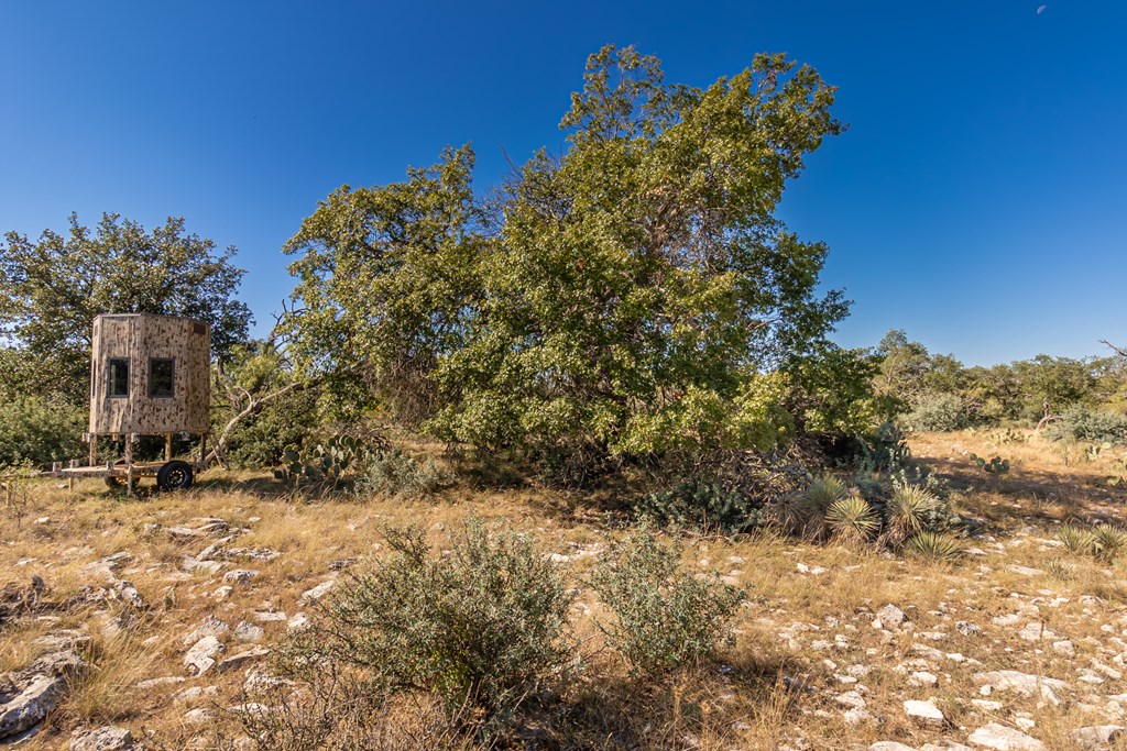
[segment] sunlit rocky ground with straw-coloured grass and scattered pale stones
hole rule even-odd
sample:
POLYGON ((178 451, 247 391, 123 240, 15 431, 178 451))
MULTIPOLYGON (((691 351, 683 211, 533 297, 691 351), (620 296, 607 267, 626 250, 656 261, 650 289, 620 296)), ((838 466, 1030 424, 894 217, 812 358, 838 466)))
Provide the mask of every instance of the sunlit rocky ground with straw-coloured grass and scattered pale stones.
MULTIPOLYGON (((1107 484, 1111 457, 1012 441, 913 441, 974 521, 953 564, 690 540, 691 565, 749 599, 730 664, 694 699, 704 719, 667 748, 1127 749, 1127 565, 1055 537, 1068 521, 1124 521, 1127 494, 1107 484), (970 453, 1013 470, 985 475, 970 453)), ((607 533, 582 499, 462 489, 304 503, 221 472, 139 499, 42 483, 0 520, 0 745, 238 745, 240 716, 263 710, 272 645, 381 554, 379 528, 423 525, 441 546, 469 513, 535 534, 580 589, 576 628, 596 633, 582 583, 607 533)))

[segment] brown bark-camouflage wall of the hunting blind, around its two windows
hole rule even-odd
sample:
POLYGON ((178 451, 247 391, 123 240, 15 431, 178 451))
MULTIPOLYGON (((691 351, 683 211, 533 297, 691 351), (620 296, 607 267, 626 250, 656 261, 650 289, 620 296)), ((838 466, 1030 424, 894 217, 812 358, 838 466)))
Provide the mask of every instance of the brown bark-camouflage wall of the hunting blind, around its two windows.
POLYGON ((165 315, 99 315, 90 359, 90 432, 205 432, 211 399, 207 324, 165 315), (174 366, 170 397, 149 396, 150 358, 174 366), (109 360, 130 361, 130 394, 109 396, 109 360))

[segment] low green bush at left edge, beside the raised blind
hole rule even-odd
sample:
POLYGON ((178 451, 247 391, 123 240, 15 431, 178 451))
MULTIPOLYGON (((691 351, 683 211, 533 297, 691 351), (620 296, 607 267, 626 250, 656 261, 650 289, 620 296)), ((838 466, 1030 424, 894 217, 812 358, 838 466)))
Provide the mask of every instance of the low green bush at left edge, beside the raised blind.
POLYGON ((0 401, 0 466, 83 456, 85 431, 86 412, 59 401, 34 395, 0 401))

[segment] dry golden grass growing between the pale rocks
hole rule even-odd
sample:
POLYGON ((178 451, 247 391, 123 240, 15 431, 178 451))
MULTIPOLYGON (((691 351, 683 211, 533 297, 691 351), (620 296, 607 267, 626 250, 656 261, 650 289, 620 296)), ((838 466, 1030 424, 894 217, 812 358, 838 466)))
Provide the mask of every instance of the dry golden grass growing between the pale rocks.
MULTIPOLYGON (((336 576, 335 562, 382 555, 384 526, 419 526, 443 549, 472 513, 527 530, 545 552, 570 557, 561 565, 580 589, 574 626, 588 669, 565 691, 564 708, 557 706, 556 714, 541 721, 547 736, 564 748, 586 743, 584 748, 766 750, 786 742, 795 748, 806 743, 810 749, 866 749, 879 740, 919 748, 940 739, 966 742, 971 730, 991 721, 1015 726, 1026 713, 1036 723, 1029 732, 1046 748, 1063 750, 1075 748, 1071 732, 1079 725, 1122 723, 1124 715, 1106 697, 1127 692, 1127 685, 1115 677, 1115 671, 1127 672, 1127 565, 1071 553, 1055 539, 1064 524, 1127 520, 1127 493, 1106 482, 1117 457, 1088 462, 1075 447, 1037 436, 1001 442, 1000 433, 988 432, 919 435, 912 448, 958 490, 956 510, 985 525, 982 536, 964 540, 975 548, 971 554, 937 565, 893 557, 863 544, 815 545, 771 535, 689 540, 686 563, 730 576, 747 588, 749 602, 739 616, 736 646, 721 655, 728 668, 713 667, 675 686, 632 685, 615 655, 602 649, 593 617, 605 614, 584 583, 595 561, 585 552, 605 546, 618 533, 582 498, 530 489, 454 488, 419 501, 307 502, 261 475, 221 472, 185 494, 133 500, 94 481, 80 482, 73 491, 43 482, 18 522, 14 515, 0 515, 0 585, 23 584, 36 574, 50 587, 46 599, 61 604, 86 585, 103 584, 99 574, 85 566, 126 551, 133 558, 117 575, 132 582, 149 604, 118 634, 105 627, 117 615, 116 606, 43 610, 7 624, 0 629, 0 671, 29 663, 43 651, 35 640, 47 633, 81 628, 91 637, 90 670, 47 732, 25 745, 28 749, 57 748, 73 727, 106 723, 128 726, 154 748, 178 748, 193 737, 214 740, 216 731, 233 737, 240 732, 233 717, 220 715, 210 726, 185 724, 184 716, 212 703, 237 704, 246 669, 148 689, 137 683, 186 677, 180 638, 204 617, 214 615, 232 627, 256 623, 268 644, 286 625, 255 622, 255 614, 292 616, 308 609, 302 593, 336 576), (1001 455, 1013 468, 1004 479, 988 476, 971 465, 970 453, 1001 455), (231 545, 269 547, 282 555, 270 562, 231 562, 227 569, 259 574, 249 583, 231 584, 230 596, 218 598, 214 593, 225 583, 223 571, 188 573, 181 566, 185 556, 211 539, 177 542, 145 527, 193 526, 199 517, 249 529, 231 545), (876 611, 887 604, 907 614, 909 632, 873 628, 876 611), (982 633, 965 635, 957 622, 973 623, 982 633), (1030 623, 1056 636, 1027 641, 1020 632, 1030 623), (1073 654, 1054 649, 1054 641, 1064 640, 1072 642, 1073 654), (943 656, 922 655, 917 645, 938 649, 943 656), (1094 668, 1093 661, 1110 672, 1094 668), (1037 697, 1011 692, 983 697, 974 673, 993 669, 1059 678, 1070 689, 1059 707, 1038 706, 1037 697), (913 686, 914 670, 934 674, 937 685, 913 686), (1084 671, 1103 682, 1082 680, 1084 671), (853 678, 857 682, 843 682, 853 678), (845 718, 836 696, 858 683, 867 691, 867 712, 881 723, 845 718), (214 687, 216 694, 196 701, 171 700, 177 691, 197 686, 214 687), (951 725, 937 730, 914 724, 902 707, 907 698, 933 698, 951 725), (997 700, 1002 707, 971 699, 997 700)), ((229 641, 229 652, 242 647, 229 641)))

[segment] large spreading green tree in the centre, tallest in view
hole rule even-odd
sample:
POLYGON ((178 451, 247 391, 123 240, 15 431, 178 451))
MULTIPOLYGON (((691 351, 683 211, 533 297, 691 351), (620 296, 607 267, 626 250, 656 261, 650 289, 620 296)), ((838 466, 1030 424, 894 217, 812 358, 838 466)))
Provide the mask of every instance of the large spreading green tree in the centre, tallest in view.
POLYGON ((322 202, 286 245, 295 363, 362 372, 397 420, 565 477, 773 447, 793 435, 791 388, 809 429, 863 421, 802 372, 849 359, 825 342, 848 305, 819 290, 825 245, 774 216, 806 155, 842 131, 833 100, 782 55, 695 89, 604 47, 561 123, 564 153, 539 152, 489 202, 469 147, 322 202))

